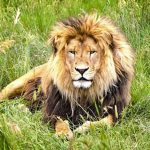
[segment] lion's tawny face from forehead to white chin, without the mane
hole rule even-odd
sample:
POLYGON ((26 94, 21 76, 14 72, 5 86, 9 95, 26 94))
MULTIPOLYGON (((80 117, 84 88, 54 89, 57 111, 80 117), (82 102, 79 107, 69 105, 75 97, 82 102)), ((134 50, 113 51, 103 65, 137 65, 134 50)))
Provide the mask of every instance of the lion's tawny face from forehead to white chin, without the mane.
POLYGON ((65 46, 66 65, 76 88, 89 88, 99 69, 100 50, 88 36, 71 39, 65 46))

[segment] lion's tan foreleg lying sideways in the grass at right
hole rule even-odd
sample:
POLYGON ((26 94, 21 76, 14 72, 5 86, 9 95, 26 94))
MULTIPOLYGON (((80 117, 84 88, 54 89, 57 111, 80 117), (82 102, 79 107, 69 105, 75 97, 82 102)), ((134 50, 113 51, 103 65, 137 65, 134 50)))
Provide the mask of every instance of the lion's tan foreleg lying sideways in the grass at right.
POLYGON ((89 131, 91 127, 99 126, 99 125, 107 125, 107 126, 113 125, 113 116, 108 115, 107 117, 105 117, 101 120, 98 120, 98 121, 86 121, 81 126, 76 128, 74 130, 74 132, 76 132, 76 133, 85 133, 85 132, 89 131))

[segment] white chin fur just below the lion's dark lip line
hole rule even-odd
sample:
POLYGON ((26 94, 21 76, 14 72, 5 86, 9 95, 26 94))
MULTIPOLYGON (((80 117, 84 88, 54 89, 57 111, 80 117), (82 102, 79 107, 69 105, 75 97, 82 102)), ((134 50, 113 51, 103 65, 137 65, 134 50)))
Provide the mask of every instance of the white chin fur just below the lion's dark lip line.
POLYGON ((91 81, 73 81, 73 85, 76 88, 89 88, 91 86, 92 82, 91 81))

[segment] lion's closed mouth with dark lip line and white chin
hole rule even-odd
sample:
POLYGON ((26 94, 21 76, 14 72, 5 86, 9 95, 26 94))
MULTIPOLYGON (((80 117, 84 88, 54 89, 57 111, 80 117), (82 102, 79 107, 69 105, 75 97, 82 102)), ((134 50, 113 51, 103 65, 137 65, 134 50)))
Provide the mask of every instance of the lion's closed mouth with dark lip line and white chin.
POLYGON ((76 88, 90 88, 90 86, 92 85, 92 80, 88 80, 84 77, 79 78, 78 80, 73 80, 73 85, 76 88))

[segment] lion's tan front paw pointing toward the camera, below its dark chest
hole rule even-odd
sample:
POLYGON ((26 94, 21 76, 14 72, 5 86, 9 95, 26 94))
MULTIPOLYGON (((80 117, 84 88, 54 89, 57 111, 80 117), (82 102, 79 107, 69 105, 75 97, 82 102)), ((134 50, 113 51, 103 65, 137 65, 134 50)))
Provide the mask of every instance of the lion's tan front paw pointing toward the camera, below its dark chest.
POLYGON ((61 118, 58 118, 55 125, 55 131, 56 136, 65 136, 68 140, 73 139, 73 132, 71 131, 67 120, 63 121, 61 118))

